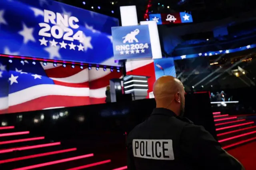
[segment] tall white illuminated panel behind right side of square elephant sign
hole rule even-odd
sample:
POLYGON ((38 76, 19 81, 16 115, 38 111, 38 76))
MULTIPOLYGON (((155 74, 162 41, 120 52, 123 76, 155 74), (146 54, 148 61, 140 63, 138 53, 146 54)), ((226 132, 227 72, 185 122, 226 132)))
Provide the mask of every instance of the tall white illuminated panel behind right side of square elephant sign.
POLYGON ((150 44, 152 50, 152 59, 162 58, 158 28, 155 21, 141 21, 140 25, 148 25, 150 44))

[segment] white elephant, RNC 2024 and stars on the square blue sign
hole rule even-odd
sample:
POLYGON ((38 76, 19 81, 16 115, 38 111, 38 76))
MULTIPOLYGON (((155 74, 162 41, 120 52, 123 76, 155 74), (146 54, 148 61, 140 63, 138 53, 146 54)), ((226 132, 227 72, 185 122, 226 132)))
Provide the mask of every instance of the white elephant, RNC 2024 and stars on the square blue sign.
POLYGON ((139 43, 139 40, 136 38, 136 36, 139 33, 140 33, 140 30, 136 29, 136 30, 126 34, 126 36, 122 37, 123 43, 131 43, 131 44, 116 45, 116 51, 120 51, 121 55, 122 54, 145 53, 144 48, 148 49, 148 43, 139 43))

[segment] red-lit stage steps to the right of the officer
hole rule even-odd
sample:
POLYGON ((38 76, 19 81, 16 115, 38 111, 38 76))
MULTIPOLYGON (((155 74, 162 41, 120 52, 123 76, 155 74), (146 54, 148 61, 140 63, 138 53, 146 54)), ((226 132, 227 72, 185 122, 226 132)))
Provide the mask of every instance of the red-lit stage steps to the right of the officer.
POLYGON ((222 148, 229 149, 256 139, 256 123, 237 116, 214 112, 218 141, 222 148))

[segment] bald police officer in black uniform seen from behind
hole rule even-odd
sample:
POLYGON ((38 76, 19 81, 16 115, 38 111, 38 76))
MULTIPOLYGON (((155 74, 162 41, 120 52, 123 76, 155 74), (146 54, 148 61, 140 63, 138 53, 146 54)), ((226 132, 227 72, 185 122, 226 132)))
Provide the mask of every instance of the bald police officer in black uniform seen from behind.
POLYGON ((244 170, 203 127, 182 118, 185 91, 172 77, 153 87, 156 109, 127 137, 128 170, 244 170))

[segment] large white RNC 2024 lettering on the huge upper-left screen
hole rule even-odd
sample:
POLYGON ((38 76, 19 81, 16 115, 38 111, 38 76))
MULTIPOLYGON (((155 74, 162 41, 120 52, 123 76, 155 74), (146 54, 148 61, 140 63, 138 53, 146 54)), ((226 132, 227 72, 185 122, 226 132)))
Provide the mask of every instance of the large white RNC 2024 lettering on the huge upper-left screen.
MULTIPOLYGON (((68 15, 63 15, 56 12, 52 12, 49 10, 44 10, 44 22, 39 23, 41 30, 39 31, 39 36, 44 37, 53 37, 55 39, 61 39, 66 41, 74 41, 78 40, 80 43, 83 42, 83 32, 78 30, 76 34, 74 34, 72 29, 78 29, 79 25, 78 18, 74 16, 68 17, 68 15), (50 26, 53 24, 54 26, 50 26), (70 29, 70 28, 72 29, 70 29)), ((41 42, 41 41, 40 41, 41 42)), ((41 43, 41 45, 45 45, 45 43, 41 43)))

